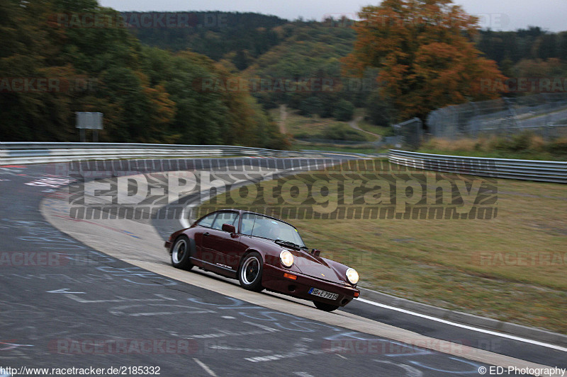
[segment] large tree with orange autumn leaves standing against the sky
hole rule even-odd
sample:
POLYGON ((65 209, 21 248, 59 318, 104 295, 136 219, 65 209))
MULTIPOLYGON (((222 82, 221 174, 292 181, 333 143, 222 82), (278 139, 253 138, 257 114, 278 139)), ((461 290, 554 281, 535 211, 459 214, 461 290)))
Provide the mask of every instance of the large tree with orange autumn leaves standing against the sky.
POLYGON ((362 8, 359 18, 344 73, 361 76, 378 68, 380 98, 397 120, 499 96, 482 85, 505 77, 473 44, 478 19, 451 0, 384 0, 362 8))

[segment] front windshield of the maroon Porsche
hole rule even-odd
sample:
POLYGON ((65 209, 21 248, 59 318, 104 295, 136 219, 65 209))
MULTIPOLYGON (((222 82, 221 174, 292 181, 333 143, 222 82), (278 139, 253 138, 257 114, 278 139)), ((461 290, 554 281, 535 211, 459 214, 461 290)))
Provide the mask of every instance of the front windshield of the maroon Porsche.
POLYGON ((283 221, 262 215, 244 214, 242 216, 241 233, 248 236, 268 238, 269 240, 281 240, 305 248, 305 243, 303 243, 296 228, 283 221))

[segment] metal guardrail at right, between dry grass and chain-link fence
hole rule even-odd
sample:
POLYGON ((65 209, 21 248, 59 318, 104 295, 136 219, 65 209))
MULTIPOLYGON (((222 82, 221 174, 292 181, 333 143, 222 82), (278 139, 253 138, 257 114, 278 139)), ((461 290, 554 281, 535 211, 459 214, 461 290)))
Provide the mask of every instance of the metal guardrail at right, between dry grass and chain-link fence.
POLYGON ((444 156, 395 150, 388 152, 388 159, 398 165, 447 173, 567 183, 567 162, 562 161, 444 156))

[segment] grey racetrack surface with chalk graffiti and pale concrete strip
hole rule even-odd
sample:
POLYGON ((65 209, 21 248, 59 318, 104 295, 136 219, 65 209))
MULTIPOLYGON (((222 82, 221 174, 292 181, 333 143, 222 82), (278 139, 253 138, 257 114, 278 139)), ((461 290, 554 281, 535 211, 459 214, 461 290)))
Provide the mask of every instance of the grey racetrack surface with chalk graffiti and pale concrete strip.
POLYGON ((505 355, 498 364, 566 367, 566 353, 546 347, 361 302, 322 313, 309 303, 182 272, 167 265, 164 248, 157 252, 159 235, 179 224, 65 219, 57 202, 68 201, 56 197, 55 187, 27 185, 43 180, 64 187, 68 177, 48 164, 1 168, 0 179, 0 366, 153 366, 163 376, 446 376, 477 375, 490 367, 478 355, 505 355), (42 206, 74 236, 44 219, 42 206), (155 230, 145 240, 149 228, 155 230), (393 327, 409 331, 394 335, 398 340, 378 335, 393 334, 393 327), (443 349, 435 339, 464 346, 443 349))

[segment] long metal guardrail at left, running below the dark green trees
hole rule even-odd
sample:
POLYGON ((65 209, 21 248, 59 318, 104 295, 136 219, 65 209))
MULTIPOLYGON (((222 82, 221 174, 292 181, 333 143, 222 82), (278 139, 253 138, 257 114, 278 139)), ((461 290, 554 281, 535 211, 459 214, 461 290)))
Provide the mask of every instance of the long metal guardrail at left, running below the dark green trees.
POLYGON ((49 163, 79 160, 167 157, 304 157, 316 152, 279 151, 247 146, 123 144, 123 143, 0 143, 0 165, 11 163, 49 163))

